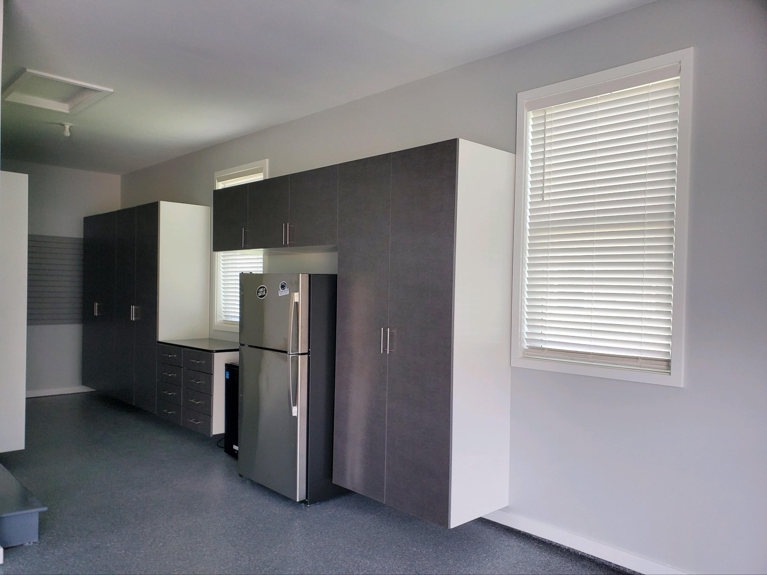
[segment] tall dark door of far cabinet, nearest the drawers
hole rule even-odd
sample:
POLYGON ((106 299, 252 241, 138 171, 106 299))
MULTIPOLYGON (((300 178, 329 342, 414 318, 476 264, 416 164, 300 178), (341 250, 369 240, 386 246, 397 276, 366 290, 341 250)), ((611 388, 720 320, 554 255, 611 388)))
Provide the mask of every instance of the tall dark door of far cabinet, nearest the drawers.
POLYGON ((157 248, 159 204, 136 208, 136 305, 133 317, 136 356, 133 403, 156 412, 157 248))

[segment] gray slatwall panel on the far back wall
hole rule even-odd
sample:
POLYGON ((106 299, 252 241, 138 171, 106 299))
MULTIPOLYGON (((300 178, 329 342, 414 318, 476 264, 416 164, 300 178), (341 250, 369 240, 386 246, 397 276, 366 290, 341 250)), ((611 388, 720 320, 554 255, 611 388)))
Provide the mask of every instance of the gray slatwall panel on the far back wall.
POLYGON ((83 238, 29 235, 27 324, 81 324, 83 238))

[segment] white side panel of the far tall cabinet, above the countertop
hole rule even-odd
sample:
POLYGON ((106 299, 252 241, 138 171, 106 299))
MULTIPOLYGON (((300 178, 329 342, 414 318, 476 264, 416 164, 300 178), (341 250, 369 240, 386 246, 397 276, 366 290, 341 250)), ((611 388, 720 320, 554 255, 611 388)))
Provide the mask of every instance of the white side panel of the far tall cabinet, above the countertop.
POLYGON ((160 202, 157 337, 208 337, 210 208, 160 202))

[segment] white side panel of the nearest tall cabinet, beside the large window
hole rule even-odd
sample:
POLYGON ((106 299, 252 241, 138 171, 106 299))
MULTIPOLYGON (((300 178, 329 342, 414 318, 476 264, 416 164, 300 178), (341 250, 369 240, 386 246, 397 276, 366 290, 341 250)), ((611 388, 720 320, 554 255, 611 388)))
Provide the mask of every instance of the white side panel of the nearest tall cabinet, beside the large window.
POLYGON ((509 504, 514 155, 459 140, 450 527, 509 504))

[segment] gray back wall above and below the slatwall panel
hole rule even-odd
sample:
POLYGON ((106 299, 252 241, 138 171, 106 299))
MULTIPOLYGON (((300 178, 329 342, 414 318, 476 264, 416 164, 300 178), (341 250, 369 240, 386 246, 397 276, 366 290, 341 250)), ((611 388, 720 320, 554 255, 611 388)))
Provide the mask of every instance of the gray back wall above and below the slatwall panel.
MULTIPOLYGON (((29 233, 83 237, 83 216, 120 208, 120 176, 3 159, 29 175, 29 233)), ((81 324, 27 327, 27 394, 81 386, 81 324)))

